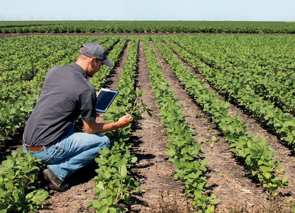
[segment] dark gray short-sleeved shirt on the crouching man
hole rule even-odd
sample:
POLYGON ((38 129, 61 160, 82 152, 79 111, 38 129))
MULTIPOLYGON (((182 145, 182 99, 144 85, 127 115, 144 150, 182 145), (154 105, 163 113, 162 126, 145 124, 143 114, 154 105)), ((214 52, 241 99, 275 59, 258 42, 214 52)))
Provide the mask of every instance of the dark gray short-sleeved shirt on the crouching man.
POLYGON ((95 105, 95 89, 81 66, 53 66, 27 121, 26 144, 37 147, 55 143, 80 114, 84 121, 95 121, 95 105))

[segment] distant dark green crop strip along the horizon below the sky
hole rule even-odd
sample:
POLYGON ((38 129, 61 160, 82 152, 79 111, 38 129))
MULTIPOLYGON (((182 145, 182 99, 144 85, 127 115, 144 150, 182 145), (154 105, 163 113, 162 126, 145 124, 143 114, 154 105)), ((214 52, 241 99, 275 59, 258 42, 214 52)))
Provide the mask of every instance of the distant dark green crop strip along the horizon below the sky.
POLYGON ((294 23, 251 21, 69 21, 0 28, 0 33, 295 33, 294 23))

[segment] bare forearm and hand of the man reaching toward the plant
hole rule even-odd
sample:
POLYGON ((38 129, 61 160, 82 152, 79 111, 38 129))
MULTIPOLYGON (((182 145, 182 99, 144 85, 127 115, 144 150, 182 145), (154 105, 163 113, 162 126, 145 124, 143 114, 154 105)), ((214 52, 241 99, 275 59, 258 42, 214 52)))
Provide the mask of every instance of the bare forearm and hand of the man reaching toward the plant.
POLYGON ((87 122, 83 120, 85 132, 89 134, 99 134, 104 132, 109 132, 115 129, 127 127, 129 125, 129 122, 131 120, 131 116, 129 114, 124 115, 121 117, 118 121, 114 123, 96 123, 93 122, 87 122))

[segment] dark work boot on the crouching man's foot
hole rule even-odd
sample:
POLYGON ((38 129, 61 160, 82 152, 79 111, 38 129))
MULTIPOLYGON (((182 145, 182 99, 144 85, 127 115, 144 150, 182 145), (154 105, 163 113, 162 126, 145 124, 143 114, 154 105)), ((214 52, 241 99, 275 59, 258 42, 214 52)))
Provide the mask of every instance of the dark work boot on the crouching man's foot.
POLYGON ((54 191, 64 192, 70 188, 69 184, 58 178, 48 167, 43 171, 43 175, 49 181, 49 188, 54 191))

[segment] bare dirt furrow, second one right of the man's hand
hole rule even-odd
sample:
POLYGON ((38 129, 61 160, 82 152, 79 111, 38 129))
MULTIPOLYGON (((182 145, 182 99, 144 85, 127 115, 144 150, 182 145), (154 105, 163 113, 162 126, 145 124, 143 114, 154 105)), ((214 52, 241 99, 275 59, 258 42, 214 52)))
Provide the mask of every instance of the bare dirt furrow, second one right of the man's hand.
MULTIPOLYGON (((207 143, 202 145, 205 158, 210 159, 207 164, 209 168, 208 182, 213 194, 221 200, 219 210, 224 210, 228 202, 246 203, 248 207, 256 207, 257 200, 261 204, 267 203, 266 194, 263 193, 261 187, 247 178, 249 174, 244 167, 239 165, 231 152, 229 152, 229 144, 224 137, 216 130, 216 126, 211 123, 209 116, 202 113, 196 104, 189 97, 187 91, 180 85, 180 82, 174 76, 169 64, 162 58, 161 53, 152 43, 154 51, 158 56, 158 60, 163 68, 166 81, 175 90, 175 98, 180 100, 184 106, 183 114, 188 115, 186 120, 195 129, 199 140, 206 140, 207 143), (211 141, 211 136, 217 137, 217 140, 211 141)), ((193 72, 191 67, 188 67, 193 72)))

